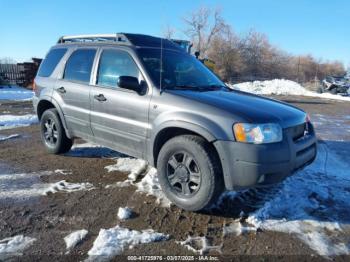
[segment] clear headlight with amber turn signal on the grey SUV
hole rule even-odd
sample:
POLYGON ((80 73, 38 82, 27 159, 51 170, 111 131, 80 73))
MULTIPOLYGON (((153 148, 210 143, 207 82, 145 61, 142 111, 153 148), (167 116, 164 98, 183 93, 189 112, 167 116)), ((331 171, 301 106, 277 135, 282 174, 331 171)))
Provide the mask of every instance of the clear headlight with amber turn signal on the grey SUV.
POLYGON ((233 132, 238 142, 265 144, 282 141, 282 128, 278 124, 237 123, 233 132))

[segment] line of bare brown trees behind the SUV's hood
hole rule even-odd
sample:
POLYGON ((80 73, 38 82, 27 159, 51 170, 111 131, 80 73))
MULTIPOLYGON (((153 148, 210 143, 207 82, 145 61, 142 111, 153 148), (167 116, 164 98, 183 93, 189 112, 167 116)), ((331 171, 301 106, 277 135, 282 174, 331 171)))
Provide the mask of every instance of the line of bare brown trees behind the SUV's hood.
MULTIPOLYGON (((255 30, 237 35, 220 9, 201 7, 184 18, 184 33, 201 58, 215 62, 215 71, 224 81, 285 78, 297 82, 322 80, 328 75, 346 73, 339 61, 322 61, 312 55, 291 55, 270 43, 255 30)), ((167 37, 175 30, 167 28, 167 37)))

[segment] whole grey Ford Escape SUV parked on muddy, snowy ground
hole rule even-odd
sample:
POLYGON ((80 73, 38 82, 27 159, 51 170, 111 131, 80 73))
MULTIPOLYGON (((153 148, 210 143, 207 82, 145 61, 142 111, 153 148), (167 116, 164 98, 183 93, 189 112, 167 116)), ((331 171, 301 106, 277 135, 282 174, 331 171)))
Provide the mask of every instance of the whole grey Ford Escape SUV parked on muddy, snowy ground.
POLYGON ((316 156, 307 114, 228 88, 176 43, 139 34, 61 37, 35 78, 49 153, 75 138, 147 160, 186 210, 223 190, 280 182, 316 156))

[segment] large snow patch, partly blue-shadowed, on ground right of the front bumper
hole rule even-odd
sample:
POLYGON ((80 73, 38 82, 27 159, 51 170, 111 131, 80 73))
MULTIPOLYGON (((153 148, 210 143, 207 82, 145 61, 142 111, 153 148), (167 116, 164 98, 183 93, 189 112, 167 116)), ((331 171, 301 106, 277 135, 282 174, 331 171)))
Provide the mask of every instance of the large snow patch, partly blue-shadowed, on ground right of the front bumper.
POLYGON ((246 222, 256 229, 295 234, 322 256, 348 255, 350 165, 326 144, 318 149, 315 162, 286 179, 246 222))

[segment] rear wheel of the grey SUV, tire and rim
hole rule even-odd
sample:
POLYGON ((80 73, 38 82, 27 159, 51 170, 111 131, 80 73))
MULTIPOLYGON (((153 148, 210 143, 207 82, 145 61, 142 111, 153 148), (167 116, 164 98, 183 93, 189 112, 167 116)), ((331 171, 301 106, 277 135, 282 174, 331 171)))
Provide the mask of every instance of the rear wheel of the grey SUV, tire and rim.
POLYGON ((46 110, 40 119, 41 140, 50 154, 62 154, 68 152, 73 140, 66 135, 57 109, 46 110))

